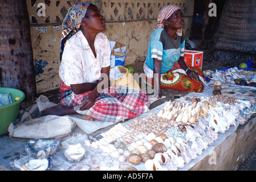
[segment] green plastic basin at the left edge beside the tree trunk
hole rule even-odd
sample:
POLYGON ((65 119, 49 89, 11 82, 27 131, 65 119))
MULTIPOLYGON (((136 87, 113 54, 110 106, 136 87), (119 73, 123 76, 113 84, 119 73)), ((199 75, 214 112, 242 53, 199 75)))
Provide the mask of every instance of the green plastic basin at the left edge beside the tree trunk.
POLYGON ((0 106, 0 135, 3 135, 6 134, 10 123, 18 118, 19 107, 25 98, 25 94, 21 90, 6 87, 0 87, 0 93, 10 93, 11 100, 13 100, 11 104, 0 106), (18 101, 15 101, 16 97, 19 97, 18 101))

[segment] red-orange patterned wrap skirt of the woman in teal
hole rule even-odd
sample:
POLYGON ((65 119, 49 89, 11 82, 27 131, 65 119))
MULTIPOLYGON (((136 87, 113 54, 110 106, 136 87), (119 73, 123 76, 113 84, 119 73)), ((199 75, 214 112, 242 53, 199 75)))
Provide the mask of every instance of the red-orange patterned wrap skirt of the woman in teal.
MULTIPOLYGON (((200 68, 190 67, 192 71, 197 72, 198 76, 201 76, 205 80, 205 75, 202 73, 200 68)), ((187 92, 202 92, 204 90, 204 83, 202 81, 197 82, 196 78, 193 77, 193 80, 183 73, 172 73, 175 69, 182 69, 178 63, 173 65, 173 68, 170 69, 165 75, 161 76, 161 88, 162 89, 172 89, 180 90, 187 92)), ((148 78, 146 76, 147 82, 154 85, 154 79, 148 78)))

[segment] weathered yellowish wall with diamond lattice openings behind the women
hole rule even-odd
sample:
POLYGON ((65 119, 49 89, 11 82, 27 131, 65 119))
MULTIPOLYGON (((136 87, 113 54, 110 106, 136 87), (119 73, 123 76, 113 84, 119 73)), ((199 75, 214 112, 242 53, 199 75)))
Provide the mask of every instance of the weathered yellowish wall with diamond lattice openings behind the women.
MULTIPOLYGON (((80 1, 27 0, 37 93, 59 88, 62 20, 70 6, 76 2, 80 1), (42 11, 43 7, 46 10, 45 14, 42 11)), ((194 9, 192 0, 157 2, 154 0, 95 0, 85 2, 92 2, 99 7, 107 23, 104 34, 108 39, 127 46, 125 65, 145 60, 149 38, 161 7, 166 5, 181 7, 186 23, 185 36, 188 38, 190 33, 194 9)))

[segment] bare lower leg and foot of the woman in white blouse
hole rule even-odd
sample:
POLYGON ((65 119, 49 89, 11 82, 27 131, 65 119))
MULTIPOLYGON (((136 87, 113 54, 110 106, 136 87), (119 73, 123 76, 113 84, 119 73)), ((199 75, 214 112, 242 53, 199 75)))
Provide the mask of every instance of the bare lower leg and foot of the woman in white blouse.
POLYGON ((74 110, 74 107, 67 107, 63 105, 56 105, 52 107, 48 107, 40 112, 40 117, 45 115, 69 115, 69 114, 77 114, 74 110))

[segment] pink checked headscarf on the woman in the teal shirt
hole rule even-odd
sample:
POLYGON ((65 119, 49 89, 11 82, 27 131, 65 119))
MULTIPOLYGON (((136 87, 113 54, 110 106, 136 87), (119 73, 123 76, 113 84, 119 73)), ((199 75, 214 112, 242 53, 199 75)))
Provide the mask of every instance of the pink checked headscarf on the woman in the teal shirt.
MULTIPOLYGON (((163 7, 159 11, 159 14, 157 16, 157 24, 156 24, 154 30, 156 30, 156 28, 164 28, 164 23, 162 23, 162 20, 168 19, 170 17, 170 15, 172 15, 174 13, 174 11, 177 11, 179 9, 180 9, 180 7, 178 7, 176 5, 168 5, 168 6, 163 7)), ((181 36, 182 28, 178 29, 176 34, 181 36)))

